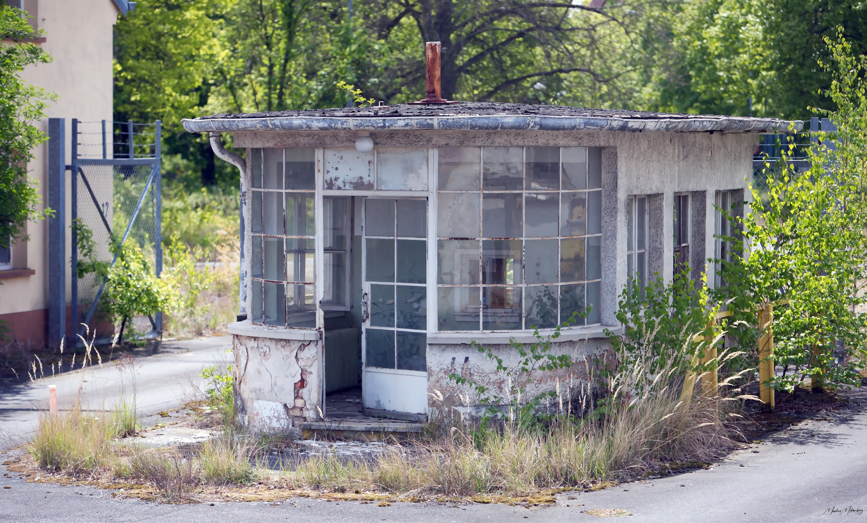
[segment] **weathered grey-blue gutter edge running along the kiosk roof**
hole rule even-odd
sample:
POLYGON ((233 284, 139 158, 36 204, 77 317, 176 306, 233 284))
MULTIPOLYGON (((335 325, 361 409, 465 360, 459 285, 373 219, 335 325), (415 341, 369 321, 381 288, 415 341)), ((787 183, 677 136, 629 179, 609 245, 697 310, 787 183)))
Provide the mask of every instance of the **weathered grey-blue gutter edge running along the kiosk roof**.
POLYGON ((600 116, 413 116, 387 118, 336 118, 288 116, 251 119, 183 119, 187 132, 237 131, 394 131, 450 129, 462 131, 668 131, 668 132, 795 132, 801 120, 696 116, 688 118, 625 119, 600 116))

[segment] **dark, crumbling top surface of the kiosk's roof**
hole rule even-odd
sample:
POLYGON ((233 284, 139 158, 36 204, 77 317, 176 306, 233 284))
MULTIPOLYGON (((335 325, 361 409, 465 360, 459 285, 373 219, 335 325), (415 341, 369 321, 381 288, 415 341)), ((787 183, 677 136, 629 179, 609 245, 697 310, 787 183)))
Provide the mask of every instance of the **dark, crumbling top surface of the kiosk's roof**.
MULTIPOLYGON (((333 107, 329 109, 304 109, 299 111, 273 111, 271 113, 213 114, 200 119, 252 119, 287 117, 331 118, 411 118, 430 116, 491 116, 497 114, 525 116, 590 116, 621 119, 694 119, 698 114, 669 114, 626 109, 591 109, 589 107, 541 106, 531 104, 508 104, 498 102, 464 101, 453 105, 401 104, 382 107, 333 107)), ((705 115, 709 116, 709 115, 705 115)))

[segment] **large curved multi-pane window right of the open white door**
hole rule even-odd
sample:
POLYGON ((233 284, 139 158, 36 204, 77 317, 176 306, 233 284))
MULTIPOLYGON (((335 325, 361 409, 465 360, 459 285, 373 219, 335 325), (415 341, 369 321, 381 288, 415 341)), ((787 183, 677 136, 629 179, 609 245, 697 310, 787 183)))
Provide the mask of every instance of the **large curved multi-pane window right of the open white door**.
POLYGON ((440 147, 438 158, 439 330, 550 328, 589 305, 598 323, 602 150, 440 147))

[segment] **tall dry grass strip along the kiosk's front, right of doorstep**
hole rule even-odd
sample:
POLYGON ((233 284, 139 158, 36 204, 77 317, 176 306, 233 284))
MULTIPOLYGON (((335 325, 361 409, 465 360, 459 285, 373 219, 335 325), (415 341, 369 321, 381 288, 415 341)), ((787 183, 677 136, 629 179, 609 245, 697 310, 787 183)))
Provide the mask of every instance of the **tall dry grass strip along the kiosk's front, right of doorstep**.
POLYGON ((617 404, 599 421, 562 417, 546 429, 454 424, 435 443, 364 462, 311 459, 292 474, 310 487, 449 496, 521 494, 616 480, 655 463, 707 460, 731 442, 720 398, 681 403, 671 393, 617 404))

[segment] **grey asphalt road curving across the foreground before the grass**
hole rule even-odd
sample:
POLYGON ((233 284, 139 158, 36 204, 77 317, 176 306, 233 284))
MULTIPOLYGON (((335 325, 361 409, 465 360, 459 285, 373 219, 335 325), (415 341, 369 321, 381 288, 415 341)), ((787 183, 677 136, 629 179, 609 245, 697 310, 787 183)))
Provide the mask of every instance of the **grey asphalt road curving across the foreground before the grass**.
POLYGON ((307 499, 273 506, 162 505, 114 500, 109 491, 92 487, 27 483, 16 474, 5 475, 3 468, 0 485, 10 488, 0 488, 0 521, 551 523, 597 520, 583 511, 605 508, 629 511, 632 515, 623 521, 636 522, 867 520, 867 390, 858 389, 851 396, 853 402, 829 414, 827 420, 801 423, 770 436, 765 442, 734 452, 710 470, 637 481, 594 493, 561 494, 556 507, 409 502, 377 507, 373 503, 307 499))

